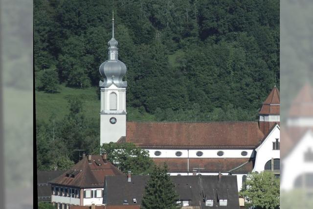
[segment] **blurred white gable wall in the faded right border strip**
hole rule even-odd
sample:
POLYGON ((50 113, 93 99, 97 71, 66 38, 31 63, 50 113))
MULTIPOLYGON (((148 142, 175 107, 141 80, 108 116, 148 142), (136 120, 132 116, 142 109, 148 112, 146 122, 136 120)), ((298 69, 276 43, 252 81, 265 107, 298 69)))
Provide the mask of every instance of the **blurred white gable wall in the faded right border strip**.
POLYGON ((304 161, 304 153, 313 150, 313 133, 308 131, 296 144, 292 152, 282 161, 281 189, 290 190, 296 178, 304 173, 313 173, 313 163, 304 161))

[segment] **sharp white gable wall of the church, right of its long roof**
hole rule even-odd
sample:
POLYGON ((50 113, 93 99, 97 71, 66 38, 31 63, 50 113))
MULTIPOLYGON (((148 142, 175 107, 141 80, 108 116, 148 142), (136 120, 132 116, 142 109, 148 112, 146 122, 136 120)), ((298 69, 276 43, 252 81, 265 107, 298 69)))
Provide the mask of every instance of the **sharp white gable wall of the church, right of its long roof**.
POLYGON ((273 150, 273 142, 276 139, 279 139, 278 141, 280 141, 280 128, 278 125, 276 125, 276 127, 268 134, 268 137, 263 141, 263 143, 255 149, 256 159, 252 172, 264 171, 265 163, 272 158, 280 158, 280 151, 273 150))

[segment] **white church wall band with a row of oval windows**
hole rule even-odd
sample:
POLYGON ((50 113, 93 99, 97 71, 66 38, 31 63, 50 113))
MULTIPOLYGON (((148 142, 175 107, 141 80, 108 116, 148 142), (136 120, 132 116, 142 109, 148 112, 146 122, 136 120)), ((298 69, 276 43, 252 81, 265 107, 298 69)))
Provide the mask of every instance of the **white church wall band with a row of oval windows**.
POLYGON ((253 157, 252 149, 146 149, 149 151, 149 155, 151 158, 250 158, 253 157), (155 152, 160 151, 161 155, 156 156, 155 152), (176 156, 176 152, 180 151, 182 153, 181 156, 176 156), (201 157, 197 156, 197 152, 201 151, 203 155, 201 157), (217 153, 219 151, 223 151, 223 156, 218 156, 217 153), (246 156, 242 156, 241 152, 246 151, 248 154, 246 156))

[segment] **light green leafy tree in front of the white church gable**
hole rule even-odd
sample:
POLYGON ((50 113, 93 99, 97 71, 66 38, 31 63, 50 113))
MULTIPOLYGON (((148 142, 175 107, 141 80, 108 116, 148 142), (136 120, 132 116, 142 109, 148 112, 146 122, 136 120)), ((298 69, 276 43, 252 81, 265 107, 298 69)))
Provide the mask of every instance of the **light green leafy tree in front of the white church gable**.
POLYGON ((257 209, 279 208, 279 178, 272 172, 253 172, 247 176, 240 195, 257 209))

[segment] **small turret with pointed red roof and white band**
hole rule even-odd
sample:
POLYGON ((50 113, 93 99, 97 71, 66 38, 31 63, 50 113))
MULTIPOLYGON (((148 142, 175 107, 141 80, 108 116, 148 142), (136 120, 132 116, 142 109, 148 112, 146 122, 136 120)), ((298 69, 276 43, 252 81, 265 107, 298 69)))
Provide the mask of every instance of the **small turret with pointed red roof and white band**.
POLYGON ((267 99, 263 102, 259 112, 259 126, 264 135, 275 125, 280 125, 280 98, 276 87, 269 93, 267 99))

